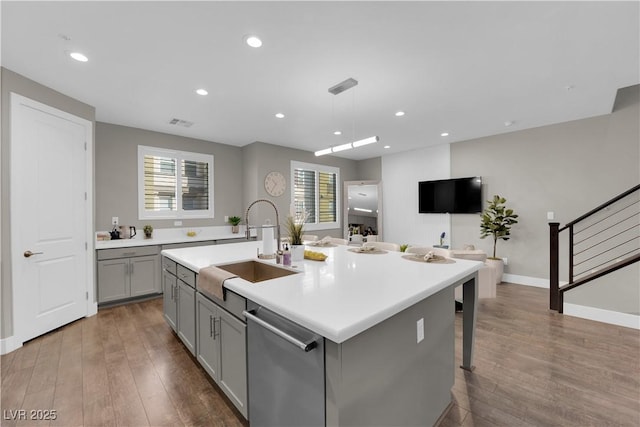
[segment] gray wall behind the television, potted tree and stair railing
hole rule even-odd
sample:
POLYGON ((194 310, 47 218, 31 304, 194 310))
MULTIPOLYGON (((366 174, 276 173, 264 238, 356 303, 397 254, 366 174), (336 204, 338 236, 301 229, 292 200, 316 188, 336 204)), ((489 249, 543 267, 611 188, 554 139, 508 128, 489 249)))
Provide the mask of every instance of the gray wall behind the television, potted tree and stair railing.
MULTIPOLYGON (((484 199, 499 194, 520 215, 512 239, 498 242, 506 273, 548 279, 547 212, 565 224, 640 182, 638 86, 618 98, 609 115, 451 144, 451 176, 481 175, 484 199)), ((491 250, 490 239, 479 239, 477 216, 451 217, 453 247, 491 250)), ((637 305, 637 274, 633 280, 616 280, 618 290, 607 292, 637 305)))

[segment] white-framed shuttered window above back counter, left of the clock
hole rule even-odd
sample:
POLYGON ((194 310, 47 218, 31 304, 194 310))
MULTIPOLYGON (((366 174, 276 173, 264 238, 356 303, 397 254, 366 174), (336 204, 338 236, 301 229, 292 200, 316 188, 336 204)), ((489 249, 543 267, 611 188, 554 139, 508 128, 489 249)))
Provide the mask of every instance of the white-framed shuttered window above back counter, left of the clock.
POLYGON ((139 219, 213 218, 213 156, 138 146, 139 219))

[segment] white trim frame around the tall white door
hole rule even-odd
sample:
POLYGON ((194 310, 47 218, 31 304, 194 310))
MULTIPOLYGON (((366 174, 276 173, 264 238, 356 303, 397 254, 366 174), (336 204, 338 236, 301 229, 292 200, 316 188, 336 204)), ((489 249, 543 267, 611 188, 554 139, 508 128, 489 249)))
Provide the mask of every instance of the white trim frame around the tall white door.
MULTIPOLYGON (((86 193, 86 203, 85 203, 85 242, 87 243, 87 251, 86 251, 86 292, 87 292, 87 307, 85 316, 92 316, 97 313, 97 303, 96 295, 95 295, 95 278, 94 278, 94 266, 95 266, 95 250, 93 250, 93 242, 94 242, 94 234, 93 234, 93 183, 94 183, 94 172, 93 172, 93 148, 94 148, 94 139, 93 139, 93 122, 84 119, 82 117, 75 116, 66 111, 59 110, 55 107, 51 107, 49 105, 43 104, 41 102, 35 101, 33 99, 27 98, 25 96, 19 95, 17 93, 11 92, 10 94, 10 109, 11 109, 11 128, 10 128, 10 136, 9 136, 9 145, 13 146, 16 142, 14 139, 14 132, 16 127, 16 122, 19 117, 19 108, 20 105, 25 105, 29 108, 33 108, 35 110, 39 110, 48 114, 55 115, 57 117, 63 118, 65 120, 69 120, 73 123, 78 123, 84 126, 85 129, 85 193, 86 193)), ((13 154, 14 150, 11 150, 13 154)), ((13 156, 11 158, 11 163, 15 164, 13 161, 13 156)), ((13 177, 13 172, 10 171, 11 176, 13 177)), ((15 191, 15 183, 13 179, 10 183, 11 191, 15 191)), ((10 196, 11 199, 11 196, 10 196)), ((11 203, 12 208, 14 206, 11 203)), ((12 216, 16 215, 16 212, 12 209, 12 216)), ((14 227, 11 225, 11 230, 13 233, 14 227)), ((17 286, 15 280, 13 280, 13 275, 15 274, 15 269, 13 268, 16 259, 20 259, 20 248, 17 247, 16 239, 11 239, 11 264, 12 264, 12 273, 11 273, 11 289, 13 294, 12 301, 12 316, 13 316, 13 335, 10 337, 12 341, 7 342, 7 349, 14 347, 17 349, 22 346, 24 342, 25 333, 21 329, 21 326, 24 323, 24 320, 20 319, 19 311, 17 307, 21 307, 21 302, 24 302, 23 289, 17 286), (16 303, 18 302, 18 303, 16 303), (13 342, 13 343, 11 343, 13 342)), ((8 338, 7 338, 8 339, 8 338)), ((4 345, 4 340, 3 340, 4 345)))

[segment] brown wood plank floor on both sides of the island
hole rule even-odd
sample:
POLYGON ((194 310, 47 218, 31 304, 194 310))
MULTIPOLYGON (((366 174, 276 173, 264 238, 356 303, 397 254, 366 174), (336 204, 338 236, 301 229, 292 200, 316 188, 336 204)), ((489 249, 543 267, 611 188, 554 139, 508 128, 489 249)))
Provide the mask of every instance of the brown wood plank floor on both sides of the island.
MULTIPOLYGON (((456 369, 440 426, 640 425, 640 333, 553 313, 547 298, 503 284, 480 301, 476 369, 456 369)), ((456 333, 460 364, 461 314, 456 333)), ((2 426, 247 425, 166 325, 161 299, 100 310, 1 364, 2 426)))

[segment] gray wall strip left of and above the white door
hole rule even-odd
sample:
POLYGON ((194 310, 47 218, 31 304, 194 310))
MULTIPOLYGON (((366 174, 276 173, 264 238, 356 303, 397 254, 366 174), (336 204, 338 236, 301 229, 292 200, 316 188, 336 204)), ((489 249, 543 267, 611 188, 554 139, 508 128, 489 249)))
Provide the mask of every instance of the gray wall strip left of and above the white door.
MULTIPOLYGON (((69 98, 46 86, 29 80, 6 68, 0 68, 2 74, 2 173, 0 176, 2 192, 2 284, 0 286, 1 296, 1 327, 0 338, 7 338, 13 334, 13 296, 11 291, 11 233, 19 233, 20 230, 11 229, 11 218, 9 212, 10 200, 10 94, 11 92, 33 99, 51 107, 66 111, 70 114, 82 117, 95 124, 95 108, 69 98)), ((95 126, 94 126, 95 132, 95 126)), ((95 139, 95 138, 94 138, 95 139)))

